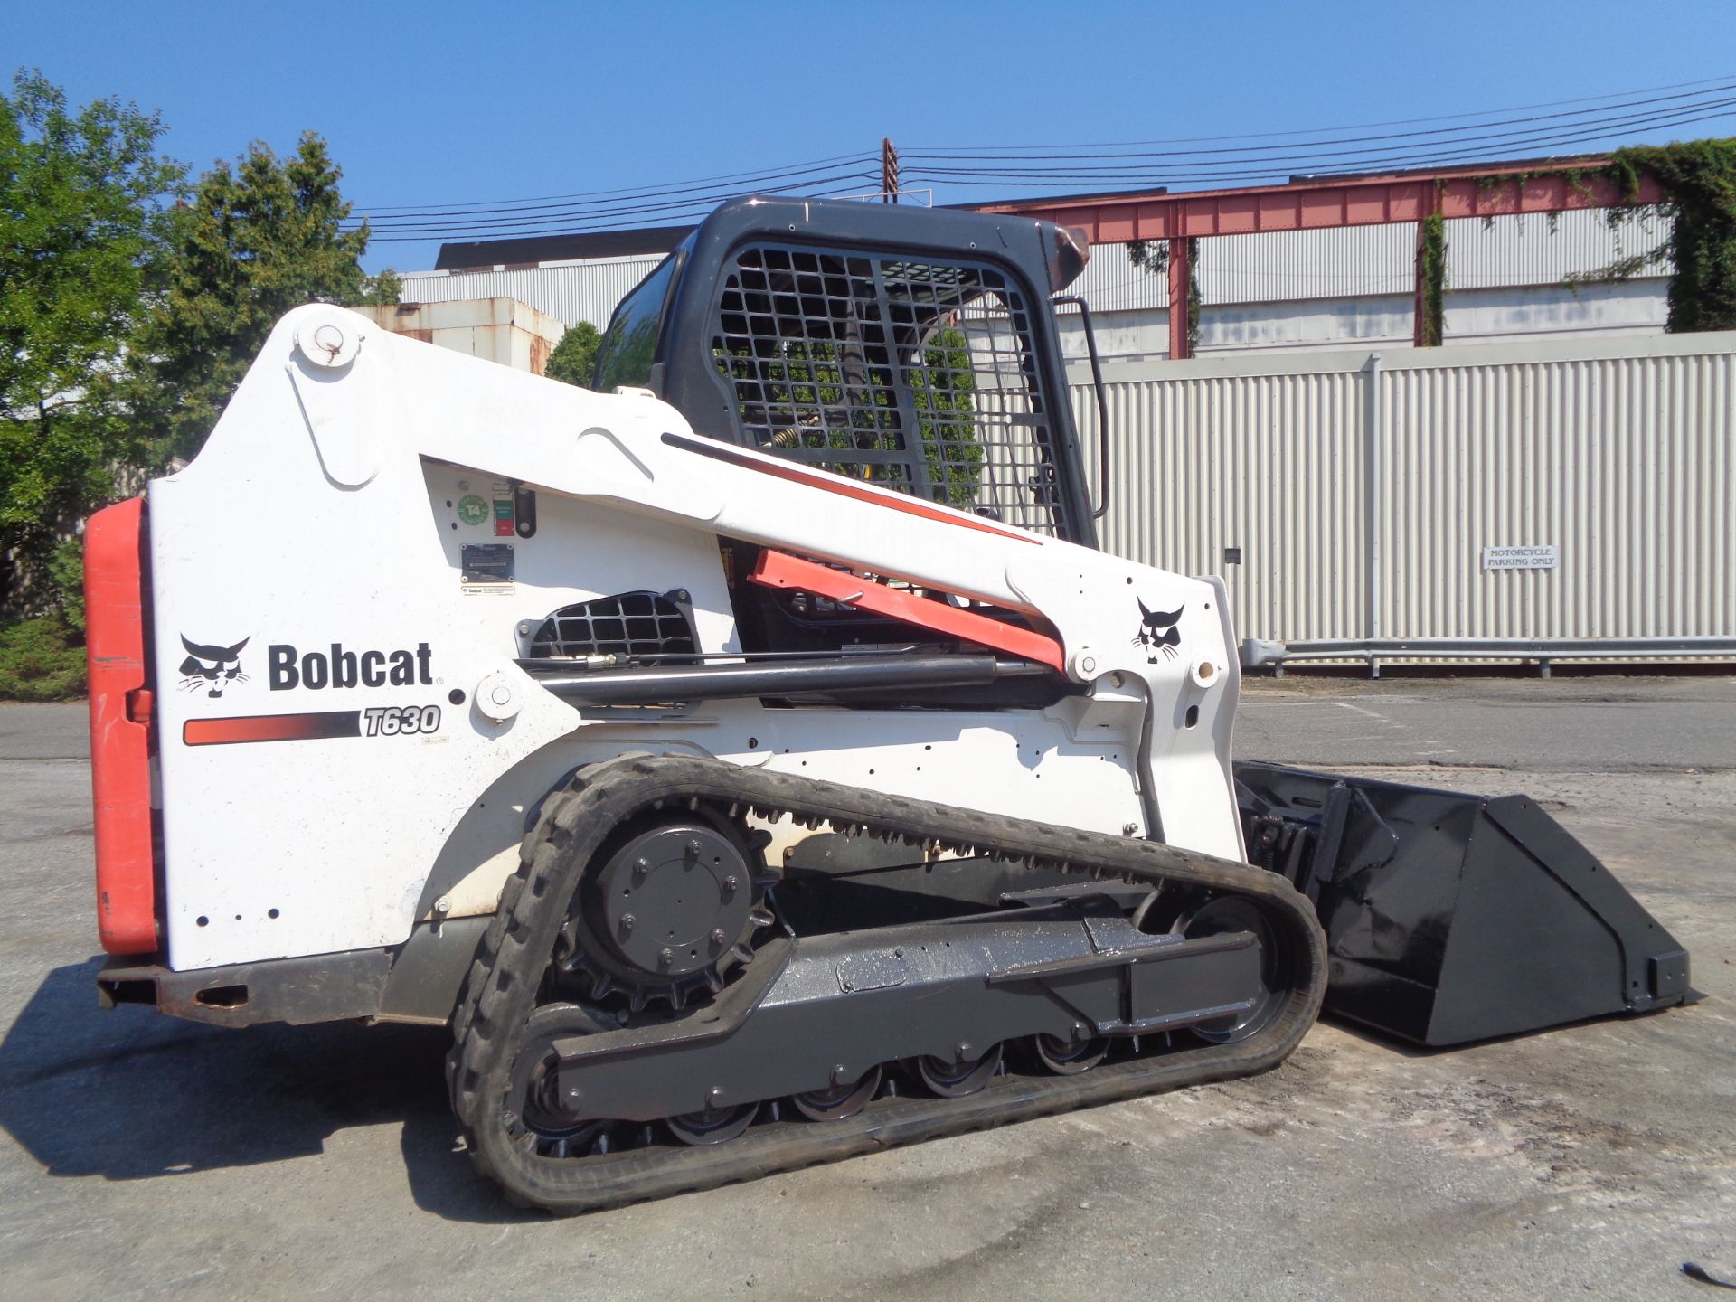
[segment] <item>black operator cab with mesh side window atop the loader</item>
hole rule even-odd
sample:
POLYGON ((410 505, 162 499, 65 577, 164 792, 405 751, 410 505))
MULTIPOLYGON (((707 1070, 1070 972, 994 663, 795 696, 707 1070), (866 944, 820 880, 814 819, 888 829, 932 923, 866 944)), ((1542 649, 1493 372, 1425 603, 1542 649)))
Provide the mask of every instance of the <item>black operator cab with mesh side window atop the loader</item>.
MULTIPOLYGON (((644 387, 698 434, 1095 547, 1047 297, 1085 259, 1023 217, 736 200, 621 300, 592 387, 644 387)), ((724 552, 734 580, 759 549, 724 552)), ((804 592, 733 595, 745 651, 911 637, 804 592)))

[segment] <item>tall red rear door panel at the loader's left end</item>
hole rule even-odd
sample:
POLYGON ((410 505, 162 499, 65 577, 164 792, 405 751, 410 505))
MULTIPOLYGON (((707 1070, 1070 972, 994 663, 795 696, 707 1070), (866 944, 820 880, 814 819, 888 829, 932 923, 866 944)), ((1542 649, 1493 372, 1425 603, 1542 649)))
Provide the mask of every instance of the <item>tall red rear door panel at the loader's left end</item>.
POLYGON ((102 948, 118 955, 158 948, 142 531, 142 496, 104 507, 85 524, 97 934, 102 948))

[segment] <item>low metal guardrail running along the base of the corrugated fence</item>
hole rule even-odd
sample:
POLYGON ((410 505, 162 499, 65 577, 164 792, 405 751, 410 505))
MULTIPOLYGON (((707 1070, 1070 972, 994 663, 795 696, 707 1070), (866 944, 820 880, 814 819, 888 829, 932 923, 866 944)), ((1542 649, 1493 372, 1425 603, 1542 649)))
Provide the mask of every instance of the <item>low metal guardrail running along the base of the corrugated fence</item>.
POLYGON ((1368 675, 1380 677, 1382 660, 1535 660, 1549 677, 1555 660, 1660 660, 1708 656, 1736 660, 1736 637, 1382 637, 1312 642, 1241 642, 1243 668, 1271 665, 1283 677, 1288 661, 1366 660, 1368 675))

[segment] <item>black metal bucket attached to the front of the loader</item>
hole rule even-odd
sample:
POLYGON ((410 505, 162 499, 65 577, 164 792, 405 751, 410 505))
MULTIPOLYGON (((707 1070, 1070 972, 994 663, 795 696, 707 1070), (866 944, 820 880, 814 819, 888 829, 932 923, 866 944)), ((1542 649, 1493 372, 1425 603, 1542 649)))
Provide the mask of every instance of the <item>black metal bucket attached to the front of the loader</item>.
POLYGON ((1691 998, 1687 951, 1524 795, 1238 764, 1248 859, 1314 901, 1326 1014, 1457 1045, 1691 998))

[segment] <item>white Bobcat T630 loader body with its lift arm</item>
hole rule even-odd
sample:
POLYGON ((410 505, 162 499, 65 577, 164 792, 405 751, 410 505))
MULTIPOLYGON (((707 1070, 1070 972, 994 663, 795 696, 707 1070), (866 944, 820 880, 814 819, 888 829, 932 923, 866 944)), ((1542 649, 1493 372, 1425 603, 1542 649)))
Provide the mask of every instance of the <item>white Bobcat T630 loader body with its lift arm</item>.
POLYGON ((391 946, 490 913, 542 797, 623 752, 1243 858, 1213 582, 755 451, 705 455, 703 434, 651 396, 335 307, 288 314, 200 457, 148 496, 168 967, 391 946), (628 590, 684 592, 700 653, 740 651, 719 538, 1016 611, 1052 630, 1083 691, 981 713, 575 708, 516 663, 526 627, 628 590), (510 547, 510 578, 467 573, 467 547, 510 547))

